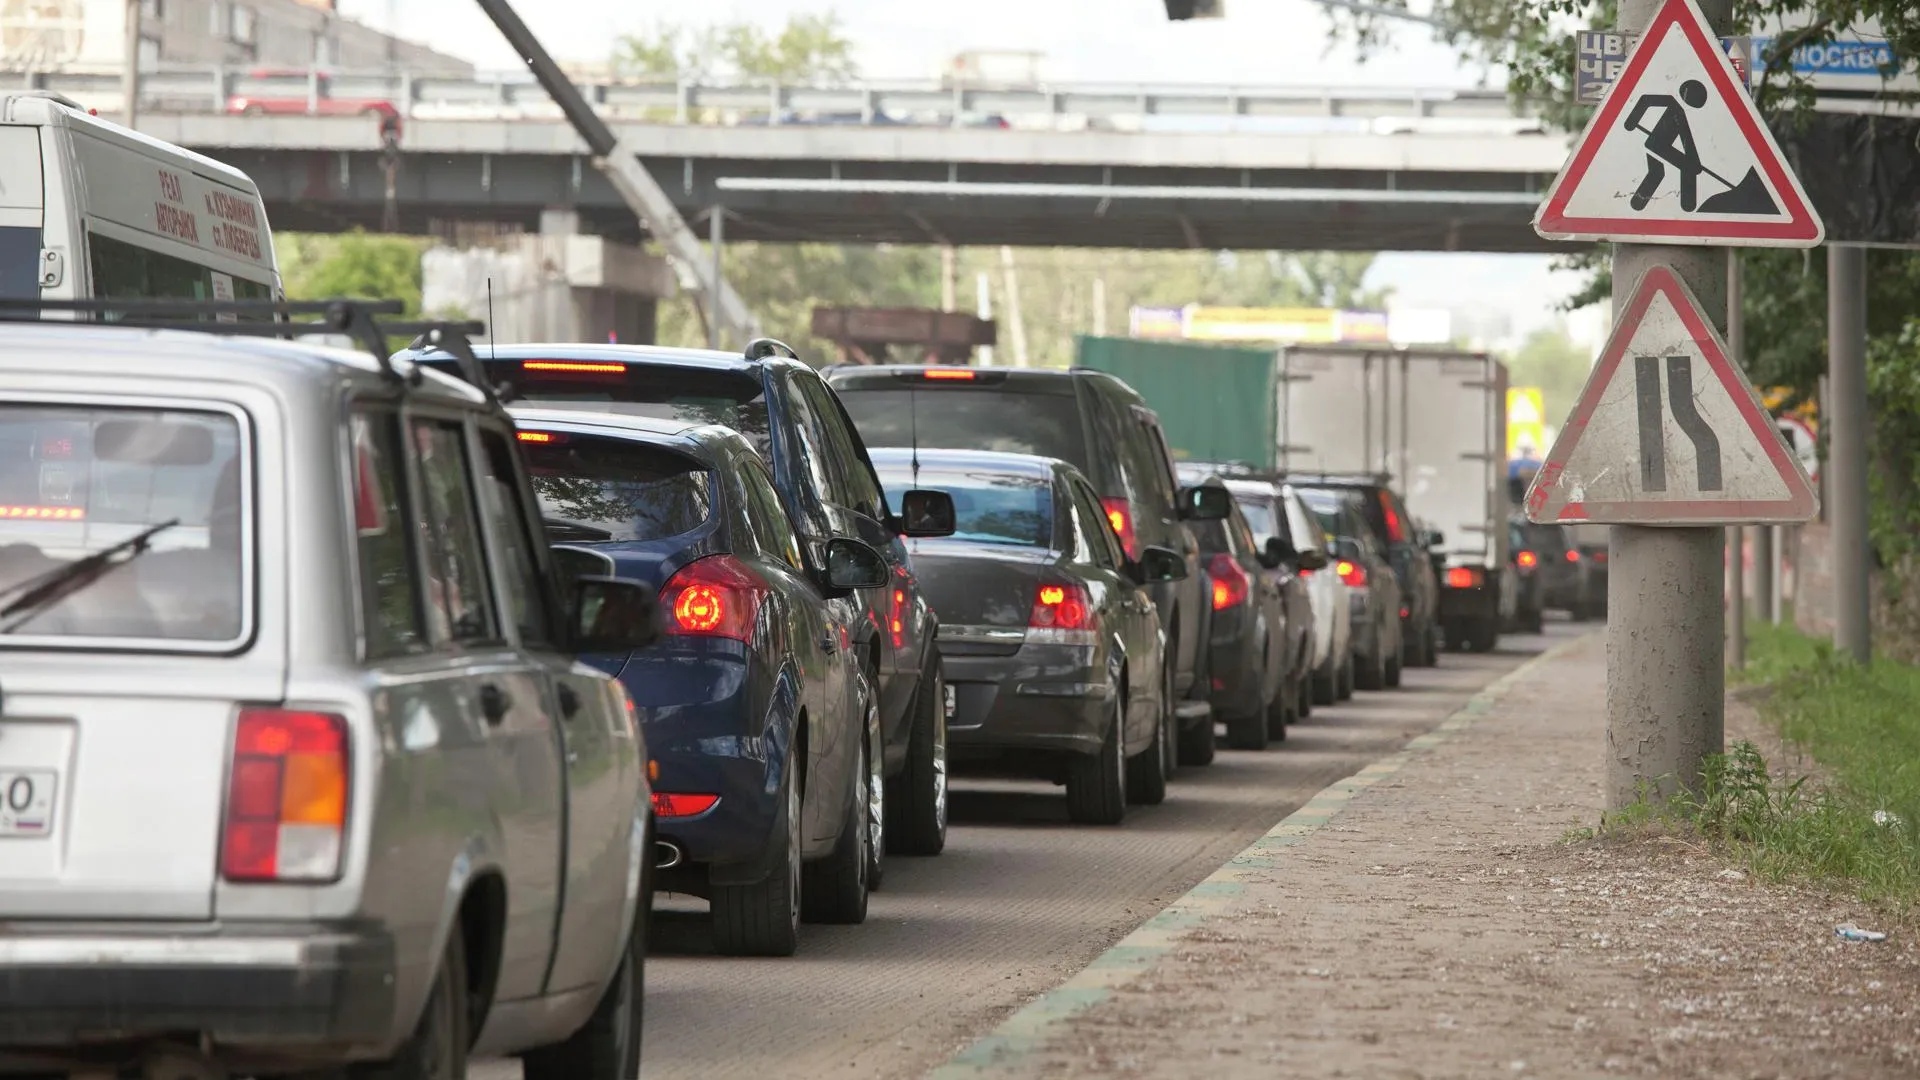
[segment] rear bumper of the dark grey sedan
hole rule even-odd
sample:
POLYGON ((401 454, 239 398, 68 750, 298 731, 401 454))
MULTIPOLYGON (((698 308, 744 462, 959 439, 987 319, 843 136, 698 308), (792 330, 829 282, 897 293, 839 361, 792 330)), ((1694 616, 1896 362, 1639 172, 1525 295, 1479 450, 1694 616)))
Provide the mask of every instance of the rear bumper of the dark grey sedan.
POLYGON ((1023 644, 1012 655, 945 653, 947 742, 973 749, 1098 753, 1114 688, 1092 646, 1023 644))

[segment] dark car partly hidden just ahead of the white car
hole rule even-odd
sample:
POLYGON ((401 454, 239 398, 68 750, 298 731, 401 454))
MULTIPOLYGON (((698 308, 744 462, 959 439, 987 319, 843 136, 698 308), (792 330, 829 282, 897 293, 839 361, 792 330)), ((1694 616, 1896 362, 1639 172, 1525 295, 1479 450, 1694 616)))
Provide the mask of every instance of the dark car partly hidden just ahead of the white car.
POLYGON ((1373 538, 1359 509, 1352 500, 1340 498, 1338 490, 1294 486, 1300 500, 1308 503, 1313 517, 1321 519, 1332 538, 1332 573, 1348 584, 1354 603, 1354 644, 1346 665, 1346 676, 1332 678, 1327 688, 1315 680, 1313 701, 1331 705, 1334 698, 1352 698, 1354 690, 1382 690, 1400 686, 1402 619, 1405 603, 1400 596, 1400 578, 1386 552, 1373 538))

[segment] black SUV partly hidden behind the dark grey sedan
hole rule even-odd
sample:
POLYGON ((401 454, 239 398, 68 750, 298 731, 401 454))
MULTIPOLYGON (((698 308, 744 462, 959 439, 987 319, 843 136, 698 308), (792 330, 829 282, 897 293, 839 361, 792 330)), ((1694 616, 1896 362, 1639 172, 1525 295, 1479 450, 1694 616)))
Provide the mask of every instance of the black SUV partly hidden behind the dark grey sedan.
POLYGON ((1133 386, 1100 371, 975 367, 833 367, 828 380, 872 446, 1000 450, 1058 457, 1091 482, 1127 557, 1179 552, 1187 575, 1152 586, 1181 701, 1181 765, 1213 759, 1208 615, 1192 502, 1173 475, 1160 417, 1133 386))

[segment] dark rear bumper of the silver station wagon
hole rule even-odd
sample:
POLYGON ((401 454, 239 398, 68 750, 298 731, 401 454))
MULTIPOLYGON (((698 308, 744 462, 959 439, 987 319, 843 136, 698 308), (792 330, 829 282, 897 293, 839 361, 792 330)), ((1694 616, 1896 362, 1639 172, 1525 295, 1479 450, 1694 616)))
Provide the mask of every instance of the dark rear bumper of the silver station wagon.
POLYGON ((382 1049, 394 940, 328 926, 108 930, 6 924, 0 1067, 35 1051, 161 1036, 290 1057, 382 1049))

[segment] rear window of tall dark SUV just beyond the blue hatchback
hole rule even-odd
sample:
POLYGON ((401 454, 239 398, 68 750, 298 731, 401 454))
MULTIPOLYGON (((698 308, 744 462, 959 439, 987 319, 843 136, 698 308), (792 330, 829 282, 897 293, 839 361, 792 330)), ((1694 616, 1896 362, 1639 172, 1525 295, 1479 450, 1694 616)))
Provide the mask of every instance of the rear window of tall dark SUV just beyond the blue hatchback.
MULTIPOLYGON (((451 363, 436 365, 457 373, 451 363)), ((486 367, 495 384, 511 382, 522 402, 730 427, 772 459, 766 390, 755 375, 591 359, 501 359, 486 367)))

